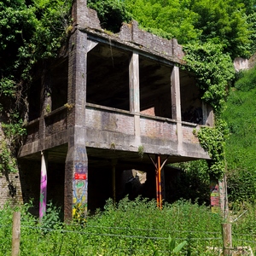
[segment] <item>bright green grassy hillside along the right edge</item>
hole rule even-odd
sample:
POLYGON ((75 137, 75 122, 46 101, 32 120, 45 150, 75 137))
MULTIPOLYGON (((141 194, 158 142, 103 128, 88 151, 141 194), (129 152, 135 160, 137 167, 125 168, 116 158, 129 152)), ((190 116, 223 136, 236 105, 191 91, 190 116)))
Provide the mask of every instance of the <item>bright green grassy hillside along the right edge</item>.
POLYGON ((226 142, 231 201, 255 201, 256 195, 256 68, 240 74, 230 89, 223 118, 230 136, 226 142))

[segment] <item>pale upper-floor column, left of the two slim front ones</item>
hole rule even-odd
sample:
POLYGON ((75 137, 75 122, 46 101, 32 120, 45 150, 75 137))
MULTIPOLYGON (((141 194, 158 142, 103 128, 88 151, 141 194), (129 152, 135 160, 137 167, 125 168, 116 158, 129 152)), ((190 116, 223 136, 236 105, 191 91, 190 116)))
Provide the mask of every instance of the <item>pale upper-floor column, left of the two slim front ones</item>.
POLYGON ((139 55, 133 51, 129 65, 130 111, 134 113, 134 131, 140 136, 140 87, 139 87, 139 55))

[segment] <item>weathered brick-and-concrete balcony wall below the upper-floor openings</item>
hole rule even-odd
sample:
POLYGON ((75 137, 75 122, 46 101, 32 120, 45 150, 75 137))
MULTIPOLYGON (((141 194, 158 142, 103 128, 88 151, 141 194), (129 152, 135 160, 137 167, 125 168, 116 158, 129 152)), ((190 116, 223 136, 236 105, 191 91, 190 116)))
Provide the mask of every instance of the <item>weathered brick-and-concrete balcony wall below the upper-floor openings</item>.
MULTIPOLYGON (((61 114, 63 119, 55 119, 55 122, 53 121, 51 124, 55 129, 46 129, 48 133, 44 138, 44 150, 67 143, 69 134, 73 132, 72 128, 64 129, 65 127, 67 129, 65 123, 67 116, 63 114, 63 109, 60 110, 60 116, 61 114), (49 133, 49 131, 52 132, 49 133)), ((176 120, 141 114, 139 119, 140 137, 137 140, 133 117, 134 115, 128 111, 87 103, 86 137, 84 138, 86 147, 109 149, 113 154, 116 151, 131 151, 131 153, 137 154, 138 147, 143 146, 144 153, 176 155, 181 161, 186 158, 209 159, 194 134, 194 129, 199 129, 199 125, 181 122, 182 147, 178 149, 176 120)), ((33 125, 34 123, 32 123, 33 125)), ((35 133, 37 134, 38 131, 35 133)), ((30 134, 27 143, 25 142, 25 145, 20 148, 20 157, 37 152, 39 143, 38 140, 32 142, 32 137, 30 134)), ((104 158, 104 155, 97 156, 104 158)))

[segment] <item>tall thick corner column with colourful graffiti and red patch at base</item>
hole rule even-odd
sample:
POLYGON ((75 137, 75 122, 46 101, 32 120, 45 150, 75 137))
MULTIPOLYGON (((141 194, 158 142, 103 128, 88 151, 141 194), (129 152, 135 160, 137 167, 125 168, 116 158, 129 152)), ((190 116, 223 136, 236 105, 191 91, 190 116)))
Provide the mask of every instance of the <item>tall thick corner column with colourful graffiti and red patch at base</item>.
POLYGON ((87 34, 76 30, 69 39, 67 114, 68 152, 65 165, 64 218, 87 212, 88 158, 85 148, 87 34))

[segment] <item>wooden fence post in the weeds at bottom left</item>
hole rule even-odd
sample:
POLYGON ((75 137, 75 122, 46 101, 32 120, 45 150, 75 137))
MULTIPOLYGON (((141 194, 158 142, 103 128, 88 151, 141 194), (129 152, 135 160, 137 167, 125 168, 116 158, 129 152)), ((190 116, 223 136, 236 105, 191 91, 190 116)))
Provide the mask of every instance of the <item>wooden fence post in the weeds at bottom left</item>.
POLYGON ((18 256, 20 251, 20 212, 13 215, 13 235, 12 235, 12 256, 18 256))

